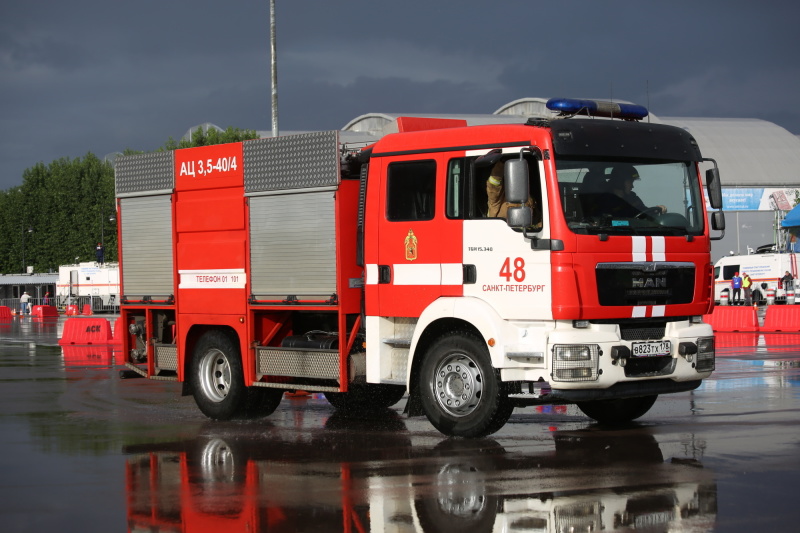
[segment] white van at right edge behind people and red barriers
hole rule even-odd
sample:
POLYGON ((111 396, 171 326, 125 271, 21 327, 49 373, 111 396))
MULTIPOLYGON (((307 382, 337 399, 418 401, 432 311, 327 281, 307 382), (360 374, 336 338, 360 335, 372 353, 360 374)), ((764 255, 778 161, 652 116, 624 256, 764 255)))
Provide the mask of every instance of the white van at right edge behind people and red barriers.
MULTIPOLYGON (((723 291, 728 291, 729 300, 733 297, 731 278, 738 272, 740 276, 747 273, 753 281, 754 303, 763 303, 766 300, 767 289, 775 289, 775 301, 783 303, 786 301, 786 291, 781 278, 787 271, 797 278, 797 254, 755 253, 723 257, 714 265, 714 300, 718 304, 723 291)), ((793 288, 800 288, 797 281, 793 288)))

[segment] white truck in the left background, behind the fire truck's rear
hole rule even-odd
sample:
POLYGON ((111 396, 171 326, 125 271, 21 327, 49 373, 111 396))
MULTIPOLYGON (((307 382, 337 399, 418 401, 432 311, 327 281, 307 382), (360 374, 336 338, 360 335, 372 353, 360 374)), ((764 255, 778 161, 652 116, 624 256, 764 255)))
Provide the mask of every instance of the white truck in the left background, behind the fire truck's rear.
POLYGON ((94 261, 58 267, 55 303, 63 308, 90 304, 92 311, 119 309, 119 263, 94 261))

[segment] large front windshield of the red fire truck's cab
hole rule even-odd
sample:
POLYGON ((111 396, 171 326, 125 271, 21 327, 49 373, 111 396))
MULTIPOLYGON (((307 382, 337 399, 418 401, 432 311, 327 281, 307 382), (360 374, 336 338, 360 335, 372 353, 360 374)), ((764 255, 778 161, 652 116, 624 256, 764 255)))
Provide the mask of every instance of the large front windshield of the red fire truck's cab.
POLYGON ((693 163, 556 161, 561 208, 583 234, 700 235, 705 219, 693 163))

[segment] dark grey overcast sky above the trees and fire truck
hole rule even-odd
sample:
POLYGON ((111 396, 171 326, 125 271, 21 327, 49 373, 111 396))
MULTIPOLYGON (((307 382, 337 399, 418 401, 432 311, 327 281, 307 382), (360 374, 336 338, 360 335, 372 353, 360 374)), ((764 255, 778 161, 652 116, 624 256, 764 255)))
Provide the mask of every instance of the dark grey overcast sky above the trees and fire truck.
MULTIPOLYGON (((268 0, 1 2, 0 189, 39 161, 153 150, 203 122, 271 129, 268 0)), ((276 11, 281 131, 580 96, 800 134, 790 0, 277 0, 276 11)))

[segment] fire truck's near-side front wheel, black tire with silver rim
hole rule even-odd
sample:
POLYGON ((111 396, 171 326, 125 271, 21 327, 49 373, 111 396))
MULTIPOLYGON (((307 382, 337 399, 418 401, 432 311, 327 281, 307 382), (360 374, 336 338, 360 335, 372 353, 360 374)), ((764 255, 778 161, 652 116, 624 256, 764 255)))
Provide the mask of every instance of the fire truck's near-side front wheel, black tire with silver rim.
POLYGON ((503 427, 514 406, 489 350, 467 331, 440 337, 420 369, 422 409, 433 426, 453 437, 483 437, 503 427))

